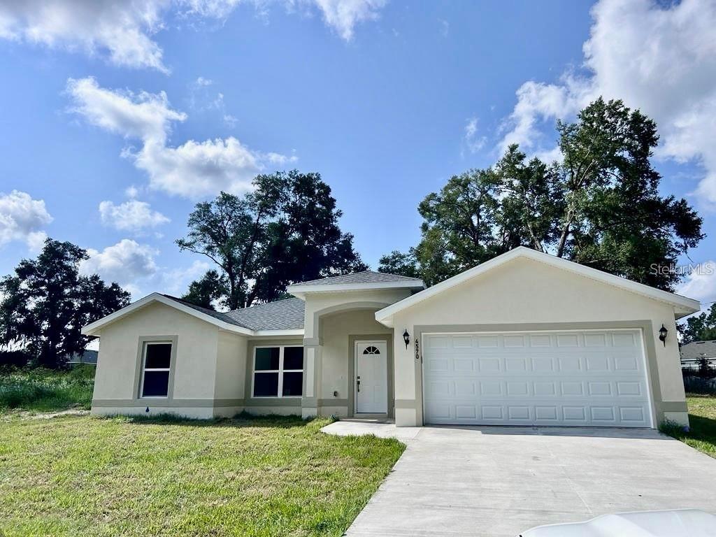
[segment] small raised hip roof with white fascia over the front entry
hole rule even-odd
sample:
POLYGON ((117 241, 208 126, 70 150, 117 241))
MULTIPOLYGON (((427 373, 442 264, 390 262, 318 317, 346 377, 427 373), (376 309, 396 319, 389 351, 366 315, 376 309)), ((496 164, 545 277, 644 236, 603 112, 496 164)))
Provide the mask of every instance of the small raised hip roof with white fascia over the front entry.
POLYGON ((419 278, 387 274, 385 272, 362 271, 340 276, 329 276, 317 280, 302 281, 289 285, 292 295, 303 297, 306 293, 330 291, 361 291, 367 289, 424 289, 425 284, 419 278))

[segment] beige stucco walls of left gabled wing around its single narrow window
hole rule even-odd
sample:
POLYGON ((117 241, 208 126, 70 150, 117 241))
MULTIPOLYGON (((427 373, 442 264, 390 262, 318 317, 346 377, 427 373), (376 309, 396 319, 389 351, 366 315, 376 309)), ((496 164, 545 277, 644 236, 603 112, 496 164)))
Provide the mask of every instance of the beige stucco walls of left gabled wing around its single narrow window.
POLYGON ((243 405, 246 338, 165 304, 135 311, 100 332, 92 412, 170 412, 189 417, 233 415, 243 405), (141 341, 176 338, 167 399, 137 397, 141 341))

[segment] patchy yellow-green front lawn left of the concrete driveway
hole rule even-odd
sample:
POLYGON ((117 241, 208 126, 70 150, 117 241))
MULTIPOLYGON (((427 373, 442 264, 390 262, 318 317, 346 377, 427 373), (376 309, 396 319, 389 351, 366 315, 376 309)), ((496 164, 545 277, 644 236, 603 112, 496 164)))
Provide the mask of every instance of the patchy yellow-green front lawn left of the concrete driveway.
POLYGON ((340 536, 405 446, 328 422, 0 415, 0 535, 340 536))

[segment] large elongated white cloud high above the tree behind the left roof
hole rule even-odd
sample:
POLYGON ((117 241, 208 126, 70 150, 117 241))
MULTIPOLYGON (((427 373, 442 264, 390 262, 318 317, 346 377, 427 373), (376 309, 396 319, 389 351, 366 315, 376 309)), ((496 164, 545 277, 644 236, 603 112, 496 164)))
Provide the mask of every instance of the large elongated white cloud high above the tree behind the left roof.
POLYGON ((267 165, 296 160, 295 156, 251 150, 235 137, 168 145, 171 122, 183 121, 186 115, 172 110, 163 92, 105 89, 93 78, 69 79, 67 92, 74 101, 72 112, 92 125, 141 140, 140 150, 127 147, 122 155, 147 173, 150 188, 170 194, 200 198, 219 190, 246 192, 253 177, 267 165))

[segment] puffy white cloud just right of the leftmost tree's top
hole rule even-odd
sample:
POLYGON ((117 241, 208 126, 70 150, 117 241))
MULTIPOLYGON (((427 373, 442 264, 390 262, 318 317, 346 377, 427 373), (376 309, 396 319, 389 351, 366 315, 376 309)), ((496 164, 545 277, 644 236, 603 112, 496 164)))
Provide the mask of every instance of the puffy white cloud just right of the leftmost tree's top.
POLYGON ((147 244, 123 238, 102 251, 87 248, 89 259, 79 265, 81 274, 99 274, 105 281, 116 281, 134 294, 142 279, 157 273, 158 251, 147 244))

